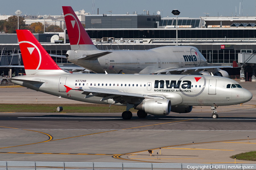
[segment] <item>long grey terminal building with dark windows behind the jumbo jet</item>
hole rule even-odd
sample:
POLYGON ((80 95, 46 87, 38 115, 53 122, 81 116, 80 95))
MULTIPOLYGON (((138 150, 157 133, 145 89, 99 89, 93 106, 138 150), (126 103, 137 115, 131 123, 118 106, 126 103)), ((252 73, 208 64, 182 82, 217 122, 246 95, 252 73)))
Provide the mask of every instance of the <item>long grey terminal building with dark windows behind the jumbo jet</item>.
MULTIPOLYGON (((85 25, 95 46, 101 50, 148 50, 176 45, 176 18, 161 18, 160 15, 133 12, 133 14, 104 14, 104 16, 80 14, 79 19, 85 25)), ((233 61, 239 61, 239 53, 255 53, 255 17, 178 18, 177 24, 178 45, 195 46, 209 64, 231 65, 233 61)), ((49 54, 65 55, 67 50, 70 50, 66 30, 64 42, 64 44, 43 43, 43 46, 49 54)), ((8 55, 13 54, 15 49, 19 50, 18 44, 2 43, 0 44, 2 53, 4 48, 8 55)), ((53 59, 58 64, 72 64, 64 58, 53 57, 53 59)), ((1 60, 0 65, 3 65, 1 60)), ((249 77, 255 75, 255 63, 247 63, 246 68, 249 77)), ((3 72, 3 68, 1 71, 3 72)), ((229 75, 239 76, 240 69, 229 71, 229 75)))

